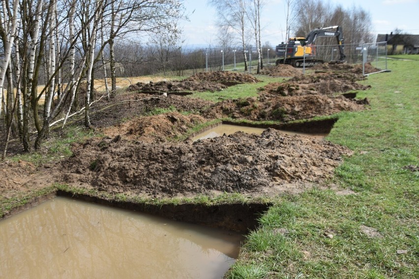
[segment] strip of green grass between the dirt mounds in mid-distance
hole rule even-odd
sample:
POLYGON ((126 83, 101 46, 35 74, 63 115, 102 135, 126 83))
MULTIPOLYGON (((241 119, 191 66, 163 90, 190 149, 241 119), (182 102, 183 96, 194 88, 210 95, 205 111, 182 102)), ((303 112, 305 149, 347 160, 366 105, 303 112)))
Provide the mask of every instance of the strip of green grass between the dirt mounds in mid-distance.
POLYGON ((213 102, 219 102, 226 99, 240 99, 240 98, 249 98, 256 97, 258 94, 258 88, 265 86, 269 83, 281 82, 283 78, 275 78, 268 76, 256 76, 261 82, 255 84, 238 84, 230 86, 222 91, 205 91, 205 92, 195 92, 193 95, 189 95, 189 98, 201 98, 205 100, 210 100, 213 102))

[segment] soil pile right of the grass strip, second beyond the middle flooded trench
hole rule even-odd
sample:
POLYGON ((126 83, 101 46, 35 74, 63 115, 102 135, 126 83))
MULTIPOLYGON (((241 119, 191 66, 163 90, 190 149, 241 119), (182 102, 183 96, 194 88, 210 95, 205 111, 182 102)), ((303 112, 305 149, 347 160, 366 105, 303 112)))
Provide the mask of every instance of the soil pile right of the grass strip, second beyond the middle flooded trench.
POLYGON ((274 94, 281 96, 300 96, 307 94, 322 94, 332 96, 335 93, 345 93, 350 90, 365 90, 370 86, 357 81, 364 79, 353 73, 320 73, 294 77, 281 83, 270 83, 260 91, 261 95, 274 94))

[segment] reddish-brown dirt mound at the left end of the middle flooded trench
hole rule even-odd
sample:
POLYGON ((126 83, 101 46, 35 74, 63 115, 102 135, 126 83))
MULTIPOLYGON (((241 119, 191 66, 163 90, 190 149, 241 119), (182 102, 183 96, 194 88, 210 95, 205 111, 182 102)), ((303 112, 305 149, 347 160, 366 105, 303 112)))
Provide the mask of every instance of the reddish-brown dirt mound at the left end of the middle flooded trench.
POLYGON ((116 139, 119 135, 123 139, 165 141, 167 138, 179 137, 197 124, 205 122, 206 119, 200 115, 182 115, 179 112, 167 112, 153 116, 143 116, 120 123, 119 125, 102 129, 101 132, 107 136, 106 142, 116 139))

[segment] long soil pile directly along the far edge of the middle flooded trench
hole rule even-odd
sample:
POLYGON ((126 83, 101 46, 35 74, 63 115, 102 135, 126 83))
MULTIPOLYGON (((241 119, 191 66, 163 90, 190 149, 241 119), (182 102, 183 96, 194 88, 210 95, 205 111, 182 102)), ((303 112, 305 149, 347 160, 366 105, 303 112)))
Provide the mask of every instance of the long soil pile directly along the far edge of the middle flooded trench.
POLYGON ((288 122, 297 119, 331 115, 341 111, 360 111, 365 109, 368 100, 357 101, 343 96, 325 95, 281 96, 263 95, 258 99, 225 100, 203 112, 207 118, 232 117, 248 120, 281 120, 288 122))

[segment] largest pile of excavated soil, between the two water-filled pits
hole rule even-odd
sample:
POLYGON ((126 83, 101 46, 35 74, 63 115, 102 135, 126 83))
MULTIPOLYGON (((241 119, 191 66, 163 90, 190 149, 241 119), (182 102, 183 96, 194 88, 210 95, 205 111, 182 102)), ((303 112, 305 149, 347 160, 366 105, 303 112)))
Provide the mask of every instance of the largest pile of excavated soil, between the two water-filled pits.
POLYGON ((90 139, 62 162, 62 182, 109 193, 175 196, 299 192, 322 183, 350 150, 326 140, 237 132, 208 140, 90 139))

